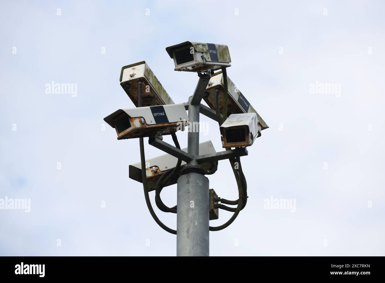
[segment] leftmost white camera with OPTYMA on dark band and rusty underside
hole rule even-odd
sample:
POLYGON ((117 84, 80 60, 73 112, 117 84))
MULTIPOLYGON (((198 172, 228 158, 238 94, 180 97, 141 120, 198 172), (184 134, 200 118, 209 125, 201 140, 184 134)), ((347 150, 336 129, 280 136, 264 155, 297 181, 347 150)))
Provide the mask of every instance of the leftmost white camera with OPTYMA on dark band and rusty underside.
POLYGON ((183 125, 187 120, 182 103, 119 109, 104 118, 105 122, 115 128, 118 140, 170 135, 184 130, 183 125))

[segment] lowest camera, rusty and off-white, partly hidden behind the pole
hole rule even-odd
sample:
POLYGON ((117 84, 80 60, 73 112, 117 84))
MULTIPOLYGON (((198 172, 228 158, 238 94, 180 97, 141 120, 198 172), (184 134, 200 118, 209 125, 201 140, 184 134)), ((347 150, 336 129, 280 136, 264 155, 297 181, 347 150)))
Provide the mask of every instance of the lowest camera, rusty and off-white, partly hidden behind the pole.
MULTIPOLYGON (((183 148, 183 151, 187 152, 187 148, 183 148)), ((215 154, 216 151, 214 149, 213 143, 209 141, 205 141, 203 143, 199 143, 199 154, 215 154)), ((146 159, 146 164, 148 165, 146 168, 146 178, 147 178, 147 188, 149 191, 155 190, 156 183, 159 180, 159 178, 168 170, 174 169, 177 158, 169 155, 164 154, 161 156, 157 156, 155 158, 146 159)), ((218 161, 216 162, 218 163, 218 161)), ((181 169, 186 166, 186 162, 182 161, 181 168, 179 172, 176 172, 176 174, 172 175, 171 179, 164 184, 164 186, 169 186, 176 184, 179 173, 181 169)), ((210 162, 206 163, 200 163, 199 166, 204 168, 204 170, 209 171, 213 169, 213 165, 210 162)), ((141 163, 135 163, 129 166, 129 177, 132 180, 138 181, 142 183, 142 169, 141 169, 141 163)))

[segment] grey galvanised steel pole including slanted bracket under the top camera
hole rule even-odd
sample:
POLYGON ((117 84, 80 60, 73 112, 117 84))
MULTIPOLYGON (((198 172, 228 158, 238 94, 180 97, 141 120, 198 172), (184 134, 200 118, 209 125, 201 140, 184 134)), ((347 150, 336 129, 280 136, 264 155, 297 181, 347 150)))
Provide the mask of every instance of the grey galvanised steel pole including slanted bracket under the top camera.
POLYGON ((209 179, 199 155, 199 105, 211 75, 200 75, 189 105, 187 153, 194 156, 177 181, 176 255, 209 256, 209 179))

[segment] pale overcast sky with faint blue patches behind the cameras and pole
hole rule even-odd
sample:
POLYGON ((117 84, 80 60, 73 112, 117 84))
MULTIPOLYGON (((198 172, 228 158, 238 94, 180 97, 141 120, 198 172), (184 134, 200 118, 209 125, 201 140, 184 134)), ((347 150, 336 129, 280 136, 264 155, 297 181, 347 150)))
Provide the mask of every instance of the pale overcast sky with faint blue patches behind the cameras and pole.
MULTIPOLYGON (((385 255, 384 8, 2 1, 0 200, 30 199, 30 212, 0 210, 0 255, 176 255, 176 236, 157 226, 128 177, 139 141, 118 141, 103 118, 134 107, 119 75, 142 60, 175 103, 186 102, 198 76, 175 72, 165 48, 187 40, 228 45, 229 78, 270 127, 241 159, 247 206, 210 232, 210 255, 385 255), (76 95, 46 93, 52 81, 76 84, 76 95), (330 83, 336 93, 311 90, 330 83), (295 199, 295 211, 266 209, 271 198, 295 199)), ((201 121, 201 141, 223 150, 218 123, 201 121)), ((187 133, 177 135, 186 147, 187 133)), ((147 158, 162 154, 147 138, 145 148, 147 158)), ((238 197, 228 161, 209 180, 222 198, 238 197)), ((162 198, 174 206, 176 185, 162 198)), ((176 228, 176 215, 156 212, 176 228)), ((231 217, 219 212, 212 226, 231 217)))

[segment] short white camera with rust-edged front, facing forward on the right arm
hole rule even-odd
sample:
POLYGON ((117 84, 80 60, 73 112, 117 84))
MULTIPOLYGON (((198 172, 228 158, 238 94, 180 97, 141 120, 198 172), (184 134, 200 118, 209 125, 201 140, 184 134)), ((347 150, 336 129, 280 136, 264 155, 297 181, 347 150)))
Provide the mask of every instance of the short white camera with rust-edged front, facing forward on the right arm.
POLYGON ((219 128, 223 148, 250 146, 261 135, 256 113, 231 114, 219 128))

